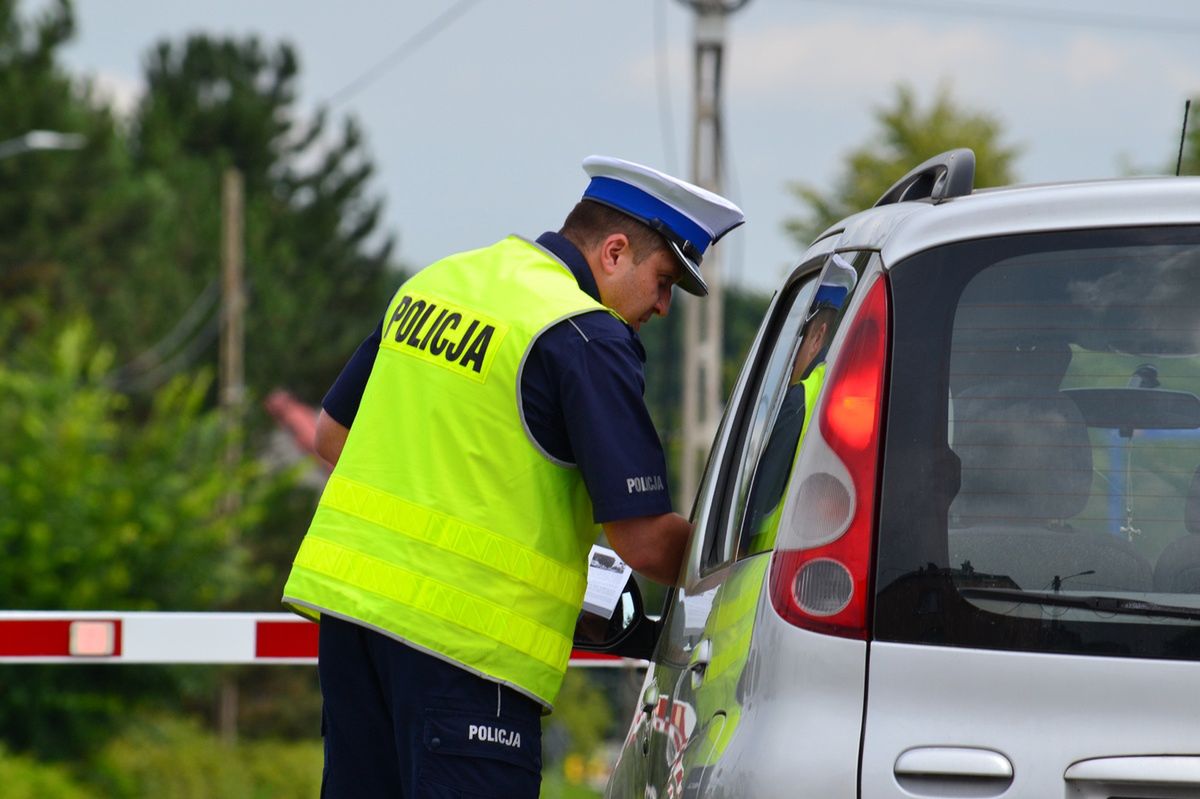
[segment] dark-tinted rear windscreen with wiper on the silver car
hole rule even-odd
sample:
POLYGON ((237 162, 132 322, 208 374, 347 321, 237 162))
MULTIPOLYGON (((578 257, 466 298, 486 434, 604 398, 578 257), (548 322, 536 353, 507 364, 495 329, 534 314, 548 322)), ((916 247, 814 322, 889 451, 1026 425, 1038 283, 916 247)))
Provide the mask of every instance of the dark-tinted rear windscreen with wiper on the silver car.
POLYGON ((892 274, 875 635, 1200 657, 1200 230, 892 274))

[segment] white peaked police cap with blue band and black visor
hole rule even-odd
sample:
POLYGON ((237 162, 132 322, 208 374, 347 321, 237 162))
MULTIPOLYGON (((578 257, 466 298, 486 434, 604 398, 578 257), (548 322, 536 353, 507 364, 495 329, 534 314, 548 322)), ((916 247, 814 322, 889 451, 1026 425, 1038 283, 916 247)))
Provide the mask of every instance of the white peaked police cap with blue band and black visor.
POLYGON ((628 214, 660 233, 683 265, 679 288, 697 296, 708 294, 700 262, 709 245, 745 222, 742 209, 720 194, 631 161, 588 156, 583 172, 592 178, 583 199, 628 214))

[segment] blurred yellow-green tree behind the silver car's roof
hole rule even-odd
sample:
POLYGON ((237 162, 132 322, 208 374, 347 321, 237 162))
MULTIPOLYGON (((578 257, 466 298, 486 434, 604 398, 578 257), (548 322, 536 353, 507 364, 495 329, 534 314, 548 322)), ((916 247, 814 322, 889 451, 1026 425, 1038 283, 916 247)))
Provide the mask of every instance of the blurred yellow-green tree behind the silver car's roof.
POLYGON ((944 85, 928 108, 918 104, 911 86, 898 86, 892 104, 876 109, 875 121, 878 131, 866 144, 847 154, 833 191, 803 182, 791 185, 806 210, 787 220, 785 228, 800 246, 808 246, 833 222, 875 205, 906 172, 946 150, 974 150, 978 188, 1014 180, 1012 164, 1020 149, 1001 140, 1001 122, 989 114, 961 108, 944 85))

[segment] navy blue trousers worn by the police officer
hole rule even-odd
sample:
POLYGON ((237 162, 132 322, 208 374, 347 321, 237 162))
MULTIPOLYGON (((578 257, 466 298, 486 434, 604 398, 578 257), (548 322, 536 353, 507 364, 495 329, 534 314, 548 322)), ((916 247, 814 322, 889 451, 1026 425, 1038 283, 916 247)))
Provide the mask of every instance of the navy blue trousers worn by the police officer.
POLYGON ((323 799, 536 799, 538 702, 328 615, 317 668, 323 799))

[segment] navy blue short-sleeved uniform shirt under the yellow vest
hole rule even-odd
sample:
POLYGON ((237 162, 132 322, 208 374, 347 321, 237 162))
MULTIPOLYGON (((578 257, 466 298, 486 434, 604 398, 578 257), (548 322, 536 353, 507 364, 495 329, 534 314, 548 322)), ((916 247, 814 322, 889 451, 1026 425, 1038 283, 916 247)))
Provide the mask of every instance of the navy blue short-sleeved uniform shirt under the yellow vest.
MULTIPOLYGON (((557 233, 544 233, 538 244, 600 301, 592 269, 575 245, 557 233)), ((382 335, 380 320, 322 402, 325 413, 346 427, 358 414, 382 335)), ((634 329, 596 311, 544 332, 521 377, 522 404, 534 439, 559 461, 578 467, 596 522, 671 510, 666 457, 643 398, 644 362, 646 350, 634 329)))

